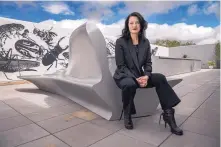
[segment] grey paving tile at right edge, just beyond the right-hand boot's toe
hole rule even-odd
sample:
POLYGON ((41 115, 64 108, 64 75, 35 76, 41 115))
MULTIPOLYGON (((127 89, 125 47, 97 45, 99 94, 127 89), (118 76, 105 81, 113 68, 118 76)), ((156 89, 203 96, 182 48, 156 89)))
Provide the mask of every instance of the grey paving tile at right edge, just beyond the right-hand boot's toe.
POLYGON ((189 117, 182 125, 182 128, 193 133, 209 136, 212 138, 220 138, 219 122, 189 117))

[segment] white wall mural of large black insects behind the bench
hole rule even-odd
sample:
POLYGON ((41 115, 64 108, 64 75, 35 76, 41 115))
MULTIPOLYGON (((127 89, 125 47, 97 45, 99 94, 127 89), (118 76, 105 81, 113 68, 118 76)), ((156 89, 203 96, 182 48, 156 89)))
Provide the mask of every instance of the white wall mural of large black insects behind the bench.
MULTIPOLYGON (((18 75, 39 75, 67 68, 72 31, 61 32, 53 26, 32 23, 0 25, 0 80, 15 80, 18 75)), ((115 42, 109 38, 105 41, 107 56, 114 56, 115 42)))

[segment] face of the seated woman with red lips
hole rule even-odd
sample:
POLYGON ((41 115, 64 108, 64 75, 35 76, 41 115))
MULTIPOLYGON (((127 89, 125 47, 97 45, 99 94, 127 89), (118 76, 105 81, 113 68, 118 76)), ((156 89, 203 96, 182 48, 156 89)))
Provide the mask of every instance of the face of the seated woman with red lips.
POLYGON ((136 16, 129 18, 128 26, 131 34, 138 34, 140 32, 140 22, 136 16))

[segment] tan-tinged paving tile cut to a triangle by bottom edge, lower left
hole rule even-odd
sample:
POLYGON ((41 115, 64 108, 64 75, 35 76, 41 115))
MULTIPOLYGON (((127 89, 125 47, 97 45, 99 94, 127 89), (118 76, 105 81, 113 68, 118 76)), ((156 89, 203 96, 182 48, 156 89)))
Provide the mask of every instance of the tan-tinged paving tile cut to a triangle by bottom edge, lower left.
POLYGON ((67 144, 63 143, 56 137, 50 135, 44 138, 32 141, 30 143, 26 143, 20 145, 18 147, 69 147, 67 144))

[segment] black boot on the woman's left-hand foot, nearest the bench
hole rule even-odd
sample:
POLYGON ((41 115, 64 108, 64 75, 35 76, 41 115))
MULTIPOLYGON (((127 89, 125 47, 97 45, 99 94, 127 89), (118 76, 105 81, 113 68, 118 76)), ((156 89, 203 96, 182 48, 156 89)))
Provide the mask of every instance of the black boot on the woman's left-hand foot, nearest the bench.
POLYGON ((126 129, 132 130, 133 129, 133 122, 131 120, 131 112, 130 107, 127 106, 124 108, 124 126, 126 129))

